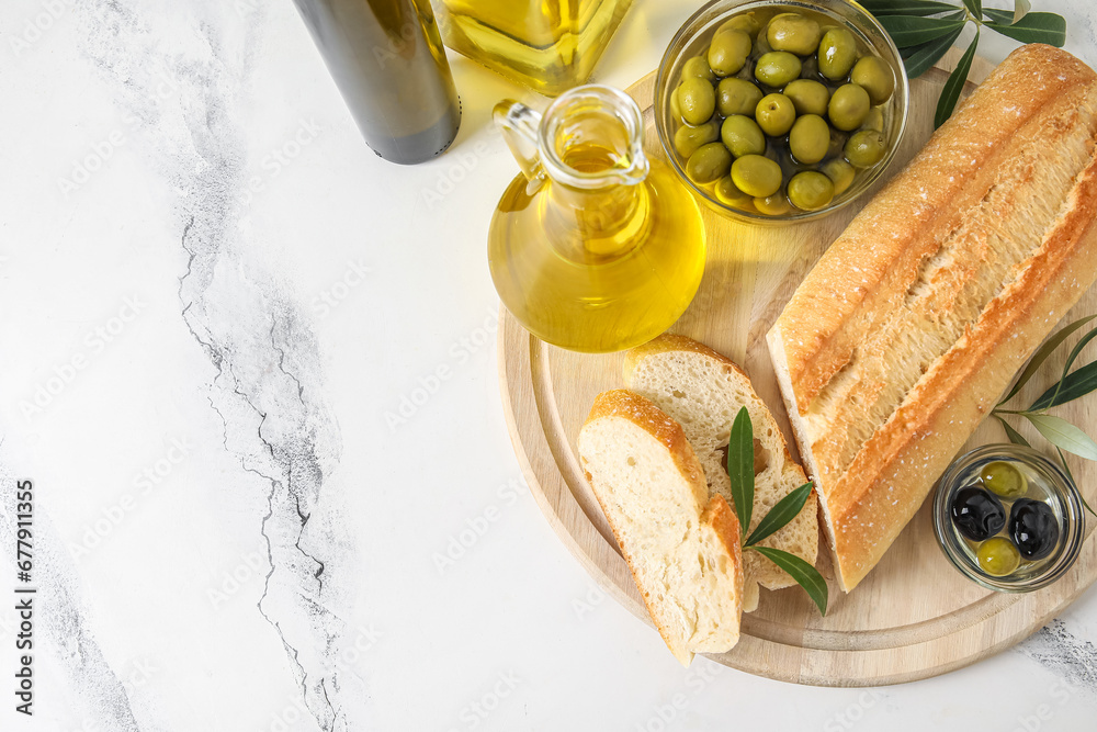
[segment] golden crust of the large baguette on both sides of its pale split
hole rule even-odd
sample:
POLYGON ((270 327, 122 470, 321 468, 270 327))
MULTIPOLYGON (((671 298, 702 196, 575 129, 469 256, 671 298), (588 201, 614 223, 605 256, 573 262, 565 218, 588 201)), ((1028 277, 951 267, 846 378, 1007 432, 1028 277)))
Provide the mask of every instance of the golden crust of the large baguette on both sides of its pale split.
POLYGON ((1093 153, 1064 213, 1017 278, 932 362, 840 474, 818 475, 827 466, 813 455, 818 436, 806 433, 806 412, 878 325, 889 299, 904 295, 912 271, 984 195, 995 169, 1019 151, 1018 131, 1044 124, 1049 109, 1092 104, 1095 88, 1097 75, 1066 52, 1039 44, 1014 52, 853 219, 769 334, 847 592, 880 561, 1014 374, 1097 278, 1093 153))

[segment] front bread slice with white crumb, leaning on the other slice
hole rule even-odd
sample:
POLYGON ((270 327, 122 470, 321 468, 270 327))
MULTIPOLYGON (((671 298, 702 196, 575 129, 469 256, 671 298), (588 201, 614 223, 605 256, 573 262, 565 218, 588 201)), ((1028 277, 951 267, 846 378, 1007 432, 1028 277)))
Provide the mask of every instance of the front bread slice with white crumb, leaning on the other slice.
POLYGON ((647 399, 599 394, 579 430, 579 464, 670 652, 722 653, 739 638, 739 523, 681 428, 647 399))

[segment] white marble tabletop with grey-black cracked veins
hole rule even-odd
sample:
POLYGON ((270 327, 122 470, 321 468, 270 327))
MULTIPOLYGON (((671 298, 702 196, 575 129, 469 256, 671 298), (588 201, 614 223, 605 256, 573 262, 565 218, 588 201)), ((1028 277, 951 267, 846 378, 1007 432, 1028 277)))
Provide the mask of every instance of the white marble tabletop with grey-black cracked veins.
MULTIPOLYGON (((1090 2, 1038 4, 1097 66, 1090 2)), ((598 79, 695 5, 636 0, 598 79)), ((7 0, 0 35, 0 567, 33 478, 39 588, 27 719, 0 583, 0 729, 1093 729, 1095 590, 871 691, 683 672, 602 601, 496 381, 485 232, 517 167, 488 111, 529 94, 454 58, 457 142, 404 168, 290 2, 7 0)))

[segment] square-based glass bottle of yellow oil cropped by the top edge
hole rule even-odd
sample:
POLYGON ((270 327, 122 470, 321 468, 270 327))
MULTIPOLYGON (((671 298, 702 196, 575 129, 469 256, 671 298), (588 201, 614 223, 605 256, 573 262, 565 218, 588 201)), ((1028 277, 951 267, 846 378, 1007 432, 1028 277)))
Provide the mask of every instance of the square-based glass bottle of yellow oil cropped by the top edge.
POLYGON ((433 0, 450 48, 555 97, 590 76, 632 0, 433 0))

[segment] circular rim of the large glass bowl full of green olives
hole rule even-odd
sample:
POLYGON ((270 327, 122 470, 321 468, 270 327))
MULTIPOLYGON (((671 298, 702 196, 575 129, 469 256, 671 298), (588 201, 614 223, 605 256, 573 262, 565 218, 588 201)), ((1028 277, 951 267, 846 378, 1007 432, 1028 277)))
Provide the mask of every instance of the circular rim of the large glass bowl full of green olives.
MULTIPOLYGON (((847 19, 840 20, 847 21, 847 19)), ((891 35, 884 30, 875 16, 852 0, 709 0, 709 2, 701 5, 686 20, 685 23, 682 23, 671 37, 670 43, 667 44, 667 48, 663 53, 663 58, 659 60, 659 68, 655 77, 655 95, 653 100, 655 128, 658 133, 659 144, 663 146, 663 151, 669 165, 674 168, 675 173, 678 176, 679 180, 685 183, 687 188, 689 188, 693 195, 701 199, 702 203, 705 205, 714 207, 722 213, 731 215, 732 217, 753 224, 789 224, 814 221, 833 214, 836 211, 840 211, 853 201, 860 199, 869 188, 880 180, 883 172, 891 166, 895 158, 895 154, 903 142, 903 137, 906 134, 907 122, 911 114, 911 83, 904 71, 905 67, 903 65, 903 57, 900 54, 898 48, 895 46, 894 41, 892 41, 891 35), (826 15, 833 15, 834 13, 826 7, 826 3, 829 2, 832 4, 847 5, 858 16, 858 23, 864 23, 872 26, 884 38, 885 46, 892 55, 892 60, 894 61, 893 69, 896 70, 896 76, 898 77, 895 86, 895 93, 902 94, 898 132, 895 135, 892 145, 889 146, 884 158, 880 161, 875 169, 870 172, 869 177, 864 180, 861 190, 855 195, 850 195, 838 203, 832 203, 830 205, 817 211, 796 211, 794 213, 782 214, 780 216, 768 216, 761 213, 753 213, 735 209, 723 203, 719 199, 711 195, 703 188, 694 183, 689 176, 686 174, 686 170, 683 169, 681 161, 678 160, 677 150, 674 148, 670 131, 667 129, 664 122, 663 108, 667 103, 666 91, 669 86, 668 74, 670 67, 674 66, 675 59, 681 55, 681 49, 685 48, 689 41, 697 35, 697 26, 700 25, 699 20, 708 14, 714 5, 726 4, 728 2, 733 2, 734 4, 727 8, 725 12, 714 16, 711 21, 709 21, 709 23, 714 24, 743 12, 771 7, 808 8, 826 15), (678 49, 677 53, 671 53, 675 49, 678 49)))

